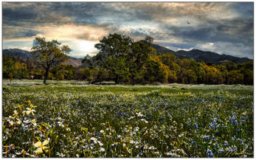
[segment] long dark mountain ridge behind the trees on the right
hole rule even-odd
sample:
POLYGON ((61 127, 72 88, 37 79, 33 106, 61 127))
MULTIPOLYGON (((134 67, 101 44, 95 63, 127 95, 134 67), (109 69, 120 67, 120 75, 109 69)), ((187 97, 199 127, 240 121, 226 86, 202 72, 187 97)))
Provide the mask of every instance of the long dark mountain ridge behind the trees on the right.
POLYGON ((180 59, 194 59, 199 62, 204 61, 205 63, 221 63, 221 61, 224 60, 231 60, 235 63, 243 63, 251 60, 249 58, 238 58, 232 55, 220 55, 215 52, 205 52, 199 49, 192 49, 190 51, 179 50, 175 52, 171 49, 167 49, 164 46, 159 46, 157 44, 153 44, 152 47, 156 49, 157 53, 173 53, 173 55, 176 55, 176 57, 180 59))

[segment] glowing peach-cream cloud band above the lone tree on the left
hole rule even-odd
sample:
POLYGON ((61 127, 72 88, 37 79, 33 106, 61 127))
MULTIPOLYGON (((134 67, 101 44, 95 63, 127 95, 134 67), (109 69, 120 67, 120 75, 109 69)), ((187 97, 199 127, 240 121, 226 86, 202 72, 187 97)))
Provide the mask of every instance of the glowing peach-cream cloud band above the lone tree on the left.
POLYGON ((3 37, 5 41, 24 41, 33 40, 35 36, 40 35, 47 40, 57 39, 59 41, 86 40, 99 41, 103 35, 108 35, 110 27, 90 26, 90 25, 44 25, 37 26, 33 30, 23 30, 20 27, 14 29, 5 29, 3 37), (18 34, 15 34, 18 30, 18 34), (12 36, 10 36, 12 35, 12 36))

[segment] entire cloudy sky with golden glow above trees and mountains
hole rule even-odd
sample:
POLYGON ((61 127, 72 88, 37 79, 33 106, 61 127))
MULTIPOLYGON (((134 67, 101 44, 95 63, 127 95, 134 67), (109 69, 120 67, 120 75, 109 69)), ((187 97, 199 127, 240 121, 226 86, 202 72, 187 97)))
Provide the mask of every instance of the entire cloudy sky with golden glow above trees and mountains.
POLYGON ((150 35, 173 51, 201 49, 253 58, 253 2, 3 2, 3 49, 30 50, 36 36, 68 45, 70 55, 97 54, 114 32, 150 35))

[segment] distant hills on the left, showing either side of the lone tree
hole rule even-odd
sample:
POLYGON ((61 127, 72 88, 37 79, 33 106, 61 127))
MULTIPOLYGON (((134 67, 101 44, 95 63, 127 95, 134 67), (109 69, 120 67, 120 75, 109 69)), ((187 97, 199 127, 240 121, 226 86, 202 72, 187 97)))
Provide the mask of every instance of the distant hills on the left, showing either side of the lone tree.
MULTIPOLYGON (((32 59, 32 54, 29 51, 23 49, 3 49, 3 55, 11 56, 21 60, 27 60, 27 58, 32 59)), ((82 66, 83 58, 73 58, 68 56, 69 59, 66 60, 63 64, 72 65, 74 67, 82 66)))

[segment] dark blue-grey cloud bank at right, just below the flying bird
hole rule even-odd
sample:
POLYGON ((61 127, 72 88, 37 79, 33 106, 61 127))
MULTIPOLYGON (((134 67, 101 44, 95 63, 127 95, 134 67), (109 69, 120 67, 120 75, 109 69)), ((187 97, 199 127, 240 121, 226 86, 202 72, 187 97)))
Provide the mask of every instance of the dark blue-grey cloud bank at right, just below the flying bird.
POLYGON ((165 26, 168 35, 182 38, 184 42, 191 43, 226 41, 230 43, 242 43, 252 46, 253 20, 235 18, 226 21, 216 21, 203 27, 173 27, 165 26))

